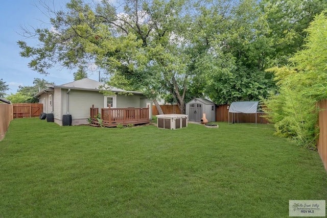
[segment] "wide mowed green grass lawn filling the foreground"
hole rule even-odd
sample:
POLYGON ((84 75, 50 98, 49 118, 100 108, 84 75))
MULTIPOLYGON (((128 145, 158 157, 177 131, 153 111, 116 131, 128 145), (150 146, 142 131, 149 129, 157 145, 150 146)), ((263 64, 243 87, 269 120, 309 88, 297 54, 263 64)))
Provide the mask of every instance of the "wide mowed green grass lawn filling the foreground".
POLYGON ((0 217, 288 217, 289 200, 326 200, 318 153, 257 127, 14 119, 0 142, 0 217))

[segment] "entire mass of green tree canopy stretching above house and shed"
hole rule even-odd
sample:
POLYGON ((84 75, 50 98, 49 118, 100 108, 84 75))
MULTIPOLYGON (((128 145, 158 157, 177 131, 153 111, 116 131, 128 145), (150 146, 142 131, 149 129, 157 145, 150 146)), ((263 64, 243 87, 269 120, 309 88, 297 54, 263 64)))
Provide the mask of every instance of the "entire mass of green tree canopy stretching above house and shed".
MULTIPOLYGON (((265 69, 289 63, 302 49, 321 0, 125 0, 88 4, 72 0, 50 13, 51 28, 19 41, 29 67, 46 74, 61 65, 86 77, 96 64, 111 83, 143 91, 158 106, 166 98, 185 111, 185 101, 209 96, 216 104, 259 100, 275 93, 265 69)), ((115 85, 115 84, 113 84, 115 85)), ((160 108, 158 108, 160 111, 160 108)))

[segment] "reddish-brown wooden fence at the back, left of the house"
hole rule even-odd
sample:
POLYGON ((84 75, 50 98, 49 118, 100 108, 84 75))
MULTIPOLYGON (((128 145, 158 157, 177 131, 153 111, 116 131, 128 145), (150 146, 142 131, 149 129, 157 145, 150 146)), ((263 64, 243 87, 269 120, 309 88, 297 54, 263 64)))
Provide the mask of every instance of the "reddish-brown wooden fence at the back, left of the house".
POLYGON ((13 104, 14 118, 39 117, 42 113, 43 104, 37 103, 20 103, 13 104))

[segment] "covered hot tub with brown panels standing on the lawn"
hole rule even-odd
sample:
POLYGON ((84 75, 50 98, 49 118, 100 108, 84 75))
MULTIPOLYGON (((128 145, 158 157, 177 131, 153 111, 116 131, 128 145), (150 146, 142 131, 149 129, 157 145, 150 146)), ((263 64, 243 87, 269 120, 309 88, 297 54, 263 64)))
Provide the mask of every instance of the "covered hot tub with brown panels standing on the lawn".
POLYGON ((161 114, 157 115, 158 128, 180 129, 188 127, 188 115, 185 114, 161 114))

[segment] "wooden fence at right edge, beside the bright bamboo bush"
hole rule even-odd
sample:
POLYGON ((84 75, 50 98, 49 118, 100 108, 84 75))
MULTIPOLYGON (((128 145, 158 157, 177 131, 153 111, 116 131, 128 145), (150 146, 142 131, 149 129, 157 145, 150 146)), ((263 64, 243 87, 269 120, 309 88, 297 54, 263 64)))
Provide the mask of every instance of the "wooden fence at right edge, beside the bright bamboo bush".
POLYGON ((318 153, 327 171, 327 100, 317 103, 319 111, 319 138, 317 143, 318 153))

